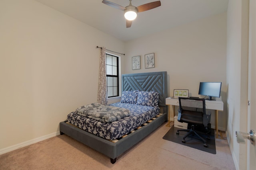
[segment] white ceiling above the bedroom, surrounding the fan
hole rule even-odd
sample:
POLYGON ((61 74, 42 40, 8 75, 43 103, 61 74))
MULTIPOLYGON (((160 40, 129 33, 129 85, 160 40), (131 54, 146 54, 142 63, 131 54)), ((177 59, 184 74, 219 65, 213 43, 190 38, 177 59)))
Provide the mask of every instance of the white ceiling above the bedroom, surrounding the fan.
MULTIPOLYGON (((161 0, 161 6, 138 13, 130 28, 126 28, 124 12, 102 3, 102 0, 36 0, 76 18, 122 41, 170 29, 190 21, 227 11, 228 0, 161 0)), ((109 0, 128 6, 129 0, 109 0)), ((156 0, 132 0, 140 6, 156 0)))

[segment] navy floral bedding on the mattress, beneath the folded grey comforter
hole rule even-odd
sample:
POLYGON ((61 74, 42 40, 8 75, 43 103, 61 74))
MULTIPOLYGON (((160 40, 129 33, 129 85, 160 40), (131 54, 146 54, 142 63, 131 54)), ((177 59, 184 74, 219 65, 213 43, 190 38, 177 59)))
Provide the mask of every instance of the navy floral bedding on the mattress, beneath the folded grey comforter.
POLYGON ((128 109, 130 110, 130 115, 124 117, 123 119, 108 123, 91 119, 90 117, 78 114, 77 111, 73 111, 68 114, 68 123, 104 139, 114 140, 126 135, 143 123, 152 119, 158 115, 160 111, 159 107, 126 104, 120 102, 110 104, 109 106, 128 109))

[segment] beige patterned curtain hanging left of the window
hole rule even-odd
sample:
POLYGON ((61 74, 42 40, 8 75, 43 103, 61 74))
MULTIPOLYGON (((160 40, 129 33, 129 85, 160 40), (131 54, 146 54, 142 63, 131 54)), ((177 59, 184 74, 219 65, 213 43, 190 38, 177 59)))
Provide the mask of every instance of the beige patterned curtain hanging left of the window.
POLYGON ((100 50, 100 70, 98 82, 98 103, 106 105, 108 103, 107 78, 106 78, 106 48, 100 50))

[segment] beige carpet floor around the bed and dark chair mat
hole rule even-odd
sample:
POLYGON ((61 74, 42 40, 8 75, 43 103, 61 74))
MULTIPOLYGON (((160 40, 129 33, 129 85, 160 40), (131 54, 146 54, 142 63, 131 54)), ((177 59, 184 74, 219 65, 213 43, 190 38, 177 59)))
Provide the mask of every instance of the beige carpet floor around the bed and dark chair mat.
POLYGON ((162 139, 169 130, 164 123, 118 156, 115 164, 107 156, 67 135, 58 135, 0 155, 0 170, 236 169, 225 137, 215 139, 217 153, 210 154, 162 139))

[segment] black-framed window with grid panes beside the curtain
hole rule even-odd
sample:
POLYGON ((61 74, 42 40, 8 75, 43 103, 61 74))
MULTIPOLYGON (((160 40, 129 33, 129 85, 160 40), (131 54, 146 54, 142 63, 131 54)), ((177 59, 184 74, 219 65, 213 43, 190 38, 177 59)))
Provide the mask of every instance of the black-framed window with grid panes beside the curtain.
POLYGON ((106 54, 108 98, 119 96, 118 69, 118 57, 106 54))

